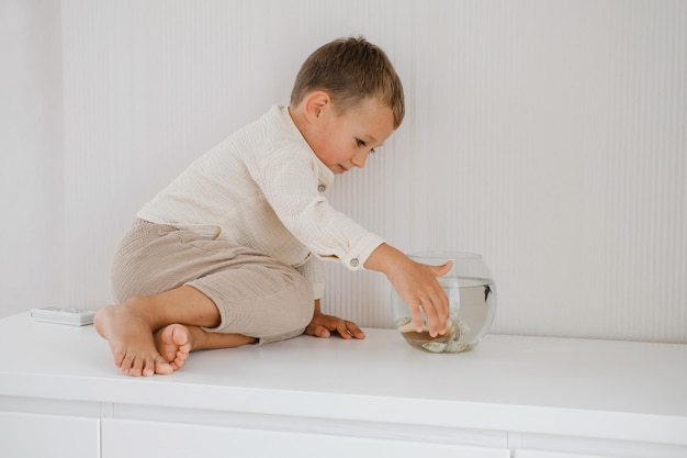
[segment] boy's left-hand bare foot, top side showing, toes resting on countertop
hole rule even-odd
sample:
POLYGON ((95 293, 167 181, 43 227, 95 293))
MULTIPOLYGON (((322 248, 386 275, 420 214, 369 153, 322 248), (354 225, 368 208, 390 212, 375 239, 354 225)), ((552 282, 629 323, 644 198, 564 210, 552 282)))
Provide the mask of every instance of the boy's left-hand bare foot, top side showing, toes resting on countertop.
POLYGON ((100 309, 95 329, 110 343, 114 365, 127 376, 171 373, 174 367, 157 350, 150 325, 137 312, 139 299, 100 309))

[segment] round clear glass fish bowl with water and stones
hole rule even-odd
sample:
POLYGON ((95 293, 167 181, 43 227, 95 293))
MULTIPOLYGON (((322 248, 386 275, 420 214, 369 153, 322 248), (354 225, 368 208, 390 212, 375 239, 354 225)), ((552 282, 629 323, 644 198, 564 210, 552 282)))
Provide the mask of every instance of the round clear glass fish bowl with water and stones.
POLYGON ((473 349, 489 331, 496 314, 496 287, 481 255, 459 252, 421 252, 407 255, 416 262, 453 266, 439 284, 449 298, 450 316, 447 332, 431 337, 423 314, 423 332, 413 325, 410 309, 392 289, 392 312, 396 328, 414 347, 430 353, 461 353, 473 349))

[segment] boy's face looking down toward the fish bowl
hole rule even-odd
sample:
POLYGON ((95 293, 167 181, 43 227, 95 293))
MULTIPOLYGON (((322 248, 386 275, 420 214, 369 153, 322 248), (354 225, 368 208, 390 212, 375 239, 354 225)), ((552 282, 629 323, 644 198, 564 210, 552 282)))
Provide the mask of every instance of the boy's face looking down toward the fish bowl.
POLYGON ((340 115, 329 104, 320 116, 308 143, 335 174, 364 167, 370 150, 381 146, 394 132, 392 110, 375 99, 368 99, 340 115))

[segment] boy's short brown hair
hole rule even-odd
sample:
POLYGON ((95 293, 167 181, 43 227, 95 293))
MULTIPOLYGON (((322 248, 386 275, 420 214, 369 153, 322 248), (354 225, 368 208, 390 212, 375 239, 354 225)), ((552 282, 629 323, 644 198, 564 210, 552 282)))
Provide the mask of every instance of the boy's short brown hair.
POLYGON ((303 63, 291 91, 291 104, 306 93, 322 90, 331 97, 338 113, 370 97, 388 107, 398 129, 405 114, 403 85, 386 54, 362 36, 328 43, 303 63))

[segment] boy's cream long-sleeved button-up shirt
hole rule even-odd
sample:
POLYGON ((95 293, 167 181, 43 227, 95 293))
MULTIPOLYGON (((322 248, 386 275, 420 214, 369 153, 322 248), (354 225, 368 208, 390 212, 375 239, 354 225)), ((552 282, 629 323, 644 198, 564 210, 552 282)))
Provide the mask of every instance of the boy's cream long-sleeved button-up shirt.
POLYGON ((285 261, 313 282, 318 299, 324 275, 317 259, 357 270, 384 242, 328 203, 333 181, 289 110, 274 105, 193 161, 137 216, 285 261))

